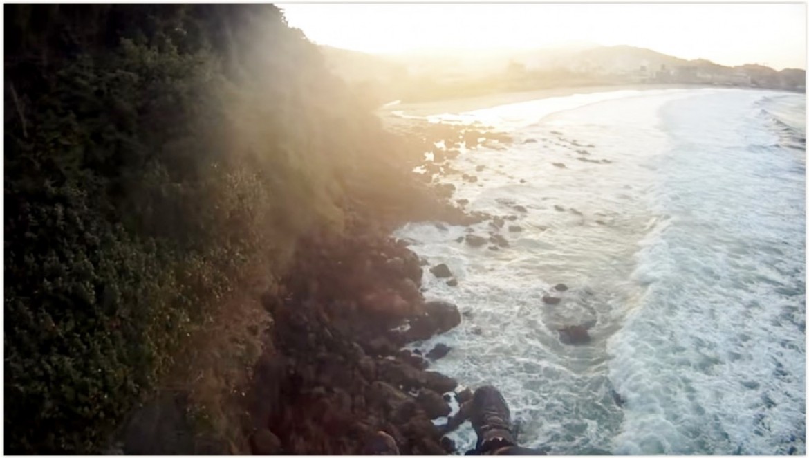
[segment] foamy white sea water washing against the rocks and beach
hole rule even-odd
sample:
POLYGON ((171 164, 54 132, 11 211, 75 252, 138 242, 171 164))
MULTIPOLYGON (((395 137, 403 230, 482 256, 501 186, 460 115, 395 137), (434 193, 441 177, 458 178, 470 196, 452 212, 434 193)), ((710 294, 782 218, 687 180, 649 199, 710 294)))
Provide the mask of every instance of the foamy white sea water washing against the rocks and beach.
MULTIPOLYGON (((805 112, 803 94, 706 88, 428 117, 513 136, 453 160, 477 182, 441 180, 515 219, 395 232, 450 267, 457 286, 425 267, 425 295, 464 314, 413 348, 451 346, 431 369, 500 388, 520 443, 550 454, 805 454, 805 112), (563 343, 570 325, 591 341, 563 343)), ((468 423, 450 437, 474 445, 468 423)))

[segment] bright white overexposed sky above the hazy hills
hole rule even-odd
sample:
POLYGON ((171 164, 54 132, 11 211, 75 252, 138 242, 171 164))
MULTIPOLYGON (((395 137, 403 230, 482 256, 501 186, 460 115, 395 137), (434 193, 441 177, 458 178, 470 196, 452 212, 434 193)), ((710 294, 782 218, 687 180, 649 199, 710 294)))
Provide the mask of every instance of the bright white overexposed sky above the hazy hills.
POLYGON ((726 66, 806 68, 807 6, 792 4, 277 4, 319 45, 366 53, 630 45, 726 66))

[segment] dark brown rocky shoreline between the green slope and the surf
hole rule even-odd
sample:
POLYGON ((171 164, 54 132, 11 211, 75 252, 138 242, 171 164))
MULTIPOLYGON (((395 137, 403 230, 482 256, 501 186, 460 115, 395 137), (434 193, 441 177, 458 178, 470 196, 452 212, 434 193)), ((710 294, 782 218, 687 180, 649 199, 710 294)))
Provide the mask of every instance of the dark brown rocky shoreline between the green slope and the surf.
MULTIPOLYGON (((434 190, 437 205, 426 220, 467 226, 491 220, 494 228, 503 227, 502 218, 451 203, 452 189, 437 178, 453 172, 449 161, 461 143, 472 148, 510 138, 478 126, 428 123, 413 123, 400 134, 418 152, 406 167, 421 165, 421 180, 434 190), (432 151, 432 160, 423 151, 432 151)), ((352 215, 342 235, 324 231, 303 240, 282 286, 262 297, 273 326, 246 402, 252 452, 359 454, 379 430, 396 440, 401 454, 455 452, 432 420, 451 413, 451 397, 464 401, 472 392, 429 370, 430 360, 443 357, 448 347, 436 346, 428 355, 403 347, 447 332, 462 316, 454 304, 425 301, 420 288, 426 261, 390 236, 405 221, 380 224, 372 214, 352 215)), ((466 242, 504 241, 489 239, 468 235, 466 242)), ((443 270, 432 266, 428 274, 451 277, 443 270)))

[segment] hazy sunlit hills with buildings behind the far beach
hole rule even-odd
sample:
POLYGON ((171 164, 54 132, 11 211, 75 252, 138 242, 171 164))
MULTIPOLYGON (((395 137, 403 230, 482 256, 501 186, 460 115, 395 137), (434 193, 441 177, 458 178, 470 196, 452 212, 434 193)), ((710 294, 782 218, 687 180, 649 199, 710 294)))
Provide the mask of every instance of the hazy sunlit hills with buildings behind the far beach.
MULTIPOLYGON (((604 84, 685 83, 804 91, 806 71, 722 66, 653 49, 572 42, 536 49, 432 49, 375 55, 321 47, 346 80, 379 100, 438 100, 501 91, 604 84)), ((378 100, 378 101, 379 101, 378 100)))

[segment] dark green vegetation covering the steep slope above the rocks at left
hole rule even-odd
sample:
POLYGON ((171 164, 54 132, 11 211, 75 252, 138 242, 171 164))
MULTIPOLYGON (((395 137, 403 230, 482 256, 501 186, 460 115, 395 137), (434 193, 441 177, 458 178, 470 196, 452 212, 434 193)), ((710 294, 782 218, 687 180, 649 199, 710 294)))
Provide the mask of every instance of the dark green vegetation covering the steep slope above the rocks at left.
POLYGON ((9 5, 5 28, 6 452, 98 452, 300 235, 412 195, 275 6, 9 5))

